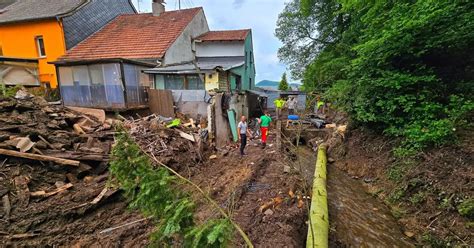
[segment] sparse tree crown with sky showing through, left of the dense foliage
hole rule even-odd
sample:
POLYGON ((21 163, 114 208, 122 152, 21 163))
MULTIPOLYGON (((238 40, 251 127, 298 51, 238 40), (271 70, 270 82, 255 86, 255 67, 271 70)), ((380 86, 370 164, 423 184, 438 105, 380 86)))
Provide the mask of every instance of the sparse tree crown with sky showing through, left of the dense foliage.
POLYGON ((278 57, 288 64, 291 76, 296 79, 303 77, 306 66, 325 47, 337 44, 347 23, 339 14, 342 5, 336 0, 317 0, 311 6, 314 7, 306 15, 300 11, 300 0, 291 0, 279 15, 275 30, 283 43, 278 57))

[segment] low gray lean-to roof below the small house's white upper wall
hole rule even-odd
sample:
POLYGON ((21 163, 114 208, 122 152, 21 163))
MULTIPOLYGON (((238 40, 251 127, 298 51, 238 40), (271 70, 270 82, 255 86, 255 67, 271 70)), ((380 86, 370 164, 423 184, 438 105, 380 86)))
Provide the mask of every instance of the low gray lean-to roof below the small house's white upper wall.
MULTIPOLYGON (((201 57, 197 58, 197 66, 200 71, 206 72, 220 68, 224 71, 240 67, 245 64, 245 57, 201 57)), ((196 67, 192 62, 184 64, 157 67, 145 70, 146 73, 156 74, 187 74, 197 73, 196 67)))

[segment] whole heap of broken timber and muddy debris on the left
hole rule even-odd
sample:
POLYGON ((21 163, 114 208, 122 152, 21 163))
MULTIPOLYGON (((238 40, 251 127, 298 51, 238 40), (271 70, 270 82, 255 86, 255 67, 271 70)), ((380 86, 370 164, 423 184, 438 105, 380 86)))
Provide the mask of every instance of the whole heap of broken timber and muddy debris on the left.
POLYGON ((113 127, 120 122, 147 153, 191 172, 209 149, 206 125, 179 117, 119 121, 103 110, 63 107, 24 91, 0 98, 0 246, 148 240, 153 223, 147 220, 134 232, 118 228, 98 236, 143 218, 107 184, 113 127))

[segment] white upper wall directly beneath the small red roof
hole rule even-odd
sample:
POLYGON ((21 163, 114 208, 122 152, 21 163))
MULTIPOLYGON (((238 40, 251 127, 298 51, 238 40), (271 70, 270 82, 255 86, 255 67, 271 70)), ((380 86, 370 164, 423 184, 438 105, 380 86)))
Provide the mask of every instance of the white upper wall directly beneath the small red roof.
POLYGON ((197 42, 197 57, 245 56, 243 42, 197 42))

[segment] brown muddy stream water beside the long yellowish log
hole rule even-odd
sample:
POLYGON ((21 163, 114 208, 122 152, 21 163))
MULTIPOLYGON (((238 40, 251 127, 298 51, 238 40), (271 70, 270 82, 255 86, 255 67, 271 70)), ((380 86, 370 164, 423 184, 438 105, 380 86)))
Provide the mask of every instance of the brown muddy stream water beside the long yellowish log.
MULTIPOLYGON (((316 153, 304 148, 299 155, 303 174, 312 176, 316 153)), ((360 181, 329 166, 327 189, 333 246, 413 247, 387 207, 367 194, 360 181)))

